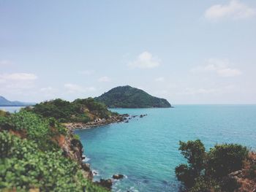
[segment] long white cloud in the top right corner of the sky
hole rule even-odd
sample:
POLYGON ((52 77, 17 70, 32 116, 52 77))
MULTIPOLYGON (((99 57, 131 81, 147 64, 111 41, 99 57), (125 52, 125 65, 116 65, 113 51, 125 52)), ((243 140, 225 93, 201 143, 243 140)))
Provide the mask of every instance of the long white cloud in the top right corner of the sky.
POLYGON ((243 19, 255 15, 255 8, 249 7, 238 0, 231 0, 228 4, 215 4, 205 12, 205 18, 208 20, 243 19))

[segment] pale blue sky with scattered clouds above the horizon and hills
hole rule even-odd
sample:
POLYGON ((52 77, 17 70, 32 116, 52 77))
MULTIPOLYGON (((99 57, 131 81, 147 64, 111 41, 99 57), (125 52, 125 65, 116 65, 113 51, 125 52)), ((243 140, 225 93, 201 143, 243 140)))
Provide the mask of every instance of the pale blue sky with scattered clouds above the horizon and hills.
POLYGON ((0 0, 0 95, 118 85, 171 104, 256 104, 256 1, 0 0))

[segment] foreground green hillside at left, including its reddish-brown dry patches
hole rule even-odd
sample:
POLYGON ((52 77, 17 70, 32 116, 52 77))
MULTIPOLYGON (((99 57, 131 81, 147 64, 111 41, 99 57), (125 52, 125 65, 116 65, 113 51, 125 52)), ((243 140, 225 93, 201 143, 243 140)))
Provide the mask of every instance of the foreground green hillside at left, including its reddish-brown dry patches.
POLYGON ((0 191, 105 191, 70 158, 79 143, 54 118, 1 111, 0 191))

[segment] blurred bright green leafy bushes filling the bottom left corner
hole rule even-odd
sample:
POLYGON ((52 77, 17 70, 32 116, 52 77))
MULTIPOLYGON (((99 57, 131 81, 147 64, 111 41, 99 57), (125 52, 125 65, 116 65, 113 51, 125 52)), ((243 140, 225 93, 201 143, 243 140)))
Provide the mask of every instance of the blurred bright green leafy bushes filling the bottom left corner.
POLYGON ((42 151, 28 139, 0 132, 0 191, 105 191, 83 177, 61 150, 42 151))

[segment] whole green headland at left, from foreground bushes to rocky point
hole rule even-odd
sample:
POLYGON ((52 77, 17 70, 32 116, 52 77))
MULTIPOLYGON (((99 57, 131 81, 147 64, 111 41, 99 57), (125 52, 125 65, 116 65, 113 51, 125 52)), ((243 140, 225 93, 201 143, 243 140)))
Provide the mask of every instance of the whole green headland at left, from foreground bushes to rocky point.
POLYGON ((74 130, 126 118, 91 98, 45 101, 13 114, 0 111, 0 191, 110 190, 110 179, 92 182, 90 165, 83 162, 83 145, 74 130))

